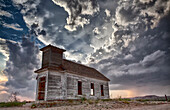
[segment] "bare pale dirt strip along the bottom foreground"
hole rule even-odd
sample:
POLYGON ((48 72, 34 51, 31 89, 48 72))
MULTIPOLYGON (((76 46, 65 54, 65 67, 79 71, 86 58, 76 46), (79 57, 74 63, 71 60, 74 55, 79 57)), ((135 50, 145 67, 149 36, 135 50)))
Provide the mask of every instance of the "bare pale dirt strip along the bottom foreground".
MULTIPOLYGON (((73 106, 61 106, 61 107, 50 107, 50 108, 35 108, 33 110, 170 110, 170 104, 160 104, 160 105, 140 105, 140 106, 124 106, 121 108, 115 107, 114 104, 98 104, 98 105, 73 105, 73 106)), ((10 107, 10 108, 0 108, 1 110, 30 110, 30 106, 24 107, 10 107)))

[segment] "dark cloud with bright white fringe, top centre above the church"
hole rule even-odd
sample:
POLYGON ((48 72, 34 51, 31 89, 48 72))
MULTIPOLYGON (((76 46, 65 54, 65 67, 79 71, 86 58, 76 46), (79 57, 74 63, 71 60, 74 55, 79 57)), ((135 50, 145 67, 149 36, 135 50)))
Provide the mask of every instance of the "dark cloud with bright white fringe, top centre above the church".
POLYGON ((67 25, 65 28, 69 31, 75 31, 78 26, 84 27, 90 23, 87 15, 94 15, 99 11, 96 0, 52 0, 55 4, 64 8, 68 13, 67 25), (83 17, 84 15, 84 17, 83 17))

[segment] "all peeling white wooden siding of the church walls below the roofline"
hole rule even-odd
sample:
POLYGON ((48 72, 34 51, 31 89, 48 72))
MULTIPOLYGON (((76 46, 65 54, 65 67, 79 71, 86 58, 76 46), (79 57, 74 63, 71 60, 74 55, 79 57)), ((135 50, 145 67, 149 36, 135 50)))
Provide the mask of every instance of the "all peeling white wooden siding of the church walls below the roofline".
MULTIPOLYGON (((38 79, 42 76, 46 76, 45 100, 80 99, 81 97, 86 97, 87 99, 109 98, 109 86, 107 81, 56 71, 41 73, 38 79), (78 95, 78 81, 82 82, 82 95, 78 95), (94 96, 91 96, 90 92, 91 83, 94 83, 94 96), (101 96, 101 85, 104 87, 104 96, 101 96)), ((39 80, 37 80, 37 82, 38 81, 39 80)))

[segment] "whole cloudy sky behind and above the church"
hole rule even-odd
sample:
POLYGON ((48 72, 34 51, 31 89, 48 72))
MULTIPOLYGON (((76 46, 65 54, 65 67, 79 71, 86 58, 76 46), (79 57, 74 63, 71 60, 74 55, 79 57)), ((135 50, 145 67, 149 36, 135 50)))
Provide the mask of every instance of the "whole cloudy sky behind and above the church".
POLYGON ((170 95, 170 0, 1 0, 0 101, 34 100, 40 48, 110 79, 110 96, 170 95))

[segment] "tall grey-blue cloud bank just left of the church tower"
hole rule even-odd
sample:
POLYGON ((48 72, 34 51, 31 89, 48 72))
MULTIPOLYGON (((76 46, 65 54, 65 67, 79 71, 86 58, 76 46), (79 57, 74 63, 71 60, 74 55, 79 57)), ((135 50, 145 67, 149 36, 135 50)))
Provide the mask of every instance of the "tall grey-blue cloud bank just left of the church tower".
POLYGON ((9 60, 6 62, 5 75, 8 81, 5 86, 8 92, 19 92, 21 96, 34 97, 35 77, 34 70, 40 65, 39 49, 24 37, 21 43, 7 41, 9 60))

